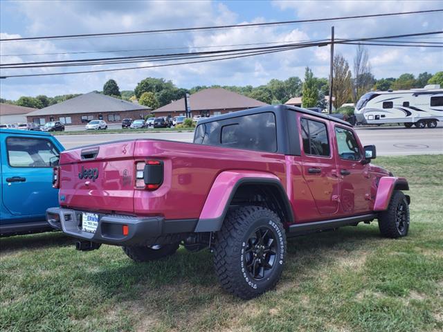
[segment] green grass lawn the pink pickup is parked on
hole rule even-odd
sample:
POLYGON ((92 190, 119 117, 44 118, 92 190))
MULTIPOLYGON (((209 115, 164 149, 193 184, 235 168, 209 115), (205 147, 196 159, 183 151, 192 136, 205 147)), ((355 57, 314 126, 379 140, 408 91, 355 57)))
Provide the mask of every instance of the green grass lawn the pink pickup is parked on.
POLYGON ((410 181, 409 236, 372 223, 290 239, 277 288, 248 302, 207 250, 136 264, 60 233, 1 239, 0 331, 442 331, 443 155, 376 161, 410 181))

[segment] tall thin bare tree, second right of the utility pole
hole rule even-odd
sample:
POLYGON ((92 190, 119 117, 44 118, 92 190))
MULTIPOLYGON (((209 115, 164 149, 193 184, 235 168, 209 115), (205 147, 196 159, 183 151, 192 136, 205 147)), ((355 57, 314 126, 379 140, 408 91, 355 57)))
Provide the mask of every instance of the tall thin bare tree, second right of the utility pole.
POLYGON ((371 74, 368 50, 365 46, 359 44, 354 57, 354 80, 352 97, 357 102, 360 97, 370 91, 374 85, 374 76, 371 74))

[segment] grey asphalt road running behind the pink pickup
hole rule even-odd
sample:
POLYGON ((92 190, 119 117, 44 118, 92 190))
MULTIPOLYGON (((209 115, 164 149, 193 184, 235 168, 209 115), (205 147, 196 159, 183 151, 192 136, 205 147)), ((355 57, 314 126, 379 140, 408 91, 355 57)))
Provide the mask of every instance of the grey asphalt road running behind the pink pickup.
MULTIPOLYGON (((410 154, 443 154, 443 127, 434 129, 406 129, 404 127, 364 127, 356 128, 363 145, 374 144, 379 156, 396 156, 410 154)), ((194 133, 109 133, 87 135, 56 136, 70 149, 82 145, 91 145, 112 140, 135 138, 157 138, 192 142, 194 133)))

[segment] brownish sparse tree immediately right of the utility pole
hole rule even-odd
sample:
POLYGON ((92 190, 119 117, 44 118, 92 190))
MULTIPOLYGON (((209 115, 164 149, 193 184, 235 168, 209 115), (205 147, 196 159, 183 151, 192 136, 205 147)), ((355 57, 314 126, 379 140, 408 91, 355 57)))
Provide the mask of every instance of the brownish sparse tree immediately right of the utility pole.
POLYGON ((332 96, 334 107, 338 109, 349 100, 352 91, 352 76, 349 64, 343 55, 337 54, 334 57, 333 66, 334 84, 332 85, 332 96))

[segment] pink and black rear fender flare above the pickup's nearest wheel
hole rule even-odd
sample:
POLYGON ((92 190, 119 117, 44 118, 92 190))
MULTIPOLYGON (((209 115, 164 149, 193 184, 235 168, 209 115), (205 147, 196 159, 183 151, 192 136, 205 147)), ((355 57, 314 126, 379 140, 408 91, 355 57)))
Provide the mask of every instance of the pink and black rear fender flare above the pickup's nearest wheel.
MULTIPOLYGON (((261 172, 222 172, 206 198, 195 232, 217 232, 229 208, 238 203, 237 199, 251 199, 253 194, 268 199, 261 202, 266 207, 272 205, 271 210, 278 214, 283 224, 293 223, 291 203, 277 176, 261 172), (231 177, 229 183, 225 183, 227 177, 231 177)), ((257 202, 260 201, 251 202, 251 205, 257 202)))

